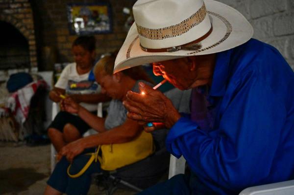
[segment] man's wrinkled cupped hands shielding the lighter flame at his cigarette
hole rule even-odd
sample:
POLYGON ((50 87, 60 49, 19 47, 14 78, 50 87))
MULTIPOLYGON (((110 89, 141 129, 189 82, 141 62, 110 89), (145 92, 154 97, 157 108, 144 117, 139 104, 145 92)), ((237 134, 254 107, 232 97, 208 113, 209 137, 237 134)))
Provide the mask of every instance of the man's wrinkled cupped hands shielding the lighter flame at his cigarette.
MULTIPOLYGON (((126 100, 123 105, 128 110, 128 118, 145 121, 164 123, 167 128, 171 128, 173 124, 180 118, 180 114, 173 107, 172 101, 163 93, 154 90, 152 87, 139 83, 141 92, 139 94, 128 91, 126 100)), ((140 122, 142 124, 142 122, 140 122)), ((146 128, 147 131, 155 130, 154 128, 146 128)))

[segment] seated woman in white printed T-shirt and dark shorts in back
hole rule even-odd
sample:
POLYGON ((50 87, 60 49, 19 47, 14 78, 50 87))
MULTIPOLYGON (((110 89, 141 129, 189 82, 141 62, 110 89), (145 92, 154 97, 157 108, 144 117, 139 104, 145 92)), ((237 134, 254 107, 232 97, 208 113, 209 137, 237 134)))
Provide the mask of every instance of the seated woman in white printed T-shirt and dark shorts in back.
MULTIPOLYGON (((80 36, 74 40, 72 51, 75 63, 63 69, 55 87, 49 92, 52 101, 60 102, 60 95, 66 94, 89 111, 97 112, 97 103, 110 100, 100 93, 100 87, 91 79, 95 43, 94 36, 80 36)), ((89 125, 79 116, 60 111, 49 125, 48 136, 55 150, 59 152, 63 146, 79 139, 89 129, 89 125)))

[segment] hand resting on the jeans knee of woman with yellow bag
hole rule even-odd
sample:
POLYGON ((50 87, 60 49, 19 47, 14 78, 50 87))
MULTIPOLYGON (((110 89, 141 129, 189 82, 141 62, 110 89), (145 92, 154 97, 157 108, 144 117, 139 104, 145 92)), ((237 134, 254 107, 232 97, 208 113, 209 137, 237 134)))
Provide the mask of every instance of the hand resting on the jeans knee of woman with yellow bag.
POLYGON ((83 138, 78 139, 74 142, 69 143, 68 145, 64 146, 58 156, 65 156, 69 162, 73 162, 73 158, 84 151, 84 144, 83 138))

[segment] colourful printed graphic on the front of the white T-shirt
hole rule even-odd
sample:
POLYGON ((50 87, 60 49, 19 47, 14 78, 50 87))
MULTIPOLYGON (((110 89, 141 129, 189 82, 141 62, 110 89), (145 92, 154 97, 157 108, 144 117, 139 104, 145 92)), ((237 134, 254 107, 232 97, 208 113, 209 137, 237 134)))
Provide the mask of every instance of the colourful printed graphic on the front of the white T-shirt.
POLYGON ((69 80, 66 89, 67 94, 91 94, 97 93, 98 84, 95 81, 73 81, 69 80))

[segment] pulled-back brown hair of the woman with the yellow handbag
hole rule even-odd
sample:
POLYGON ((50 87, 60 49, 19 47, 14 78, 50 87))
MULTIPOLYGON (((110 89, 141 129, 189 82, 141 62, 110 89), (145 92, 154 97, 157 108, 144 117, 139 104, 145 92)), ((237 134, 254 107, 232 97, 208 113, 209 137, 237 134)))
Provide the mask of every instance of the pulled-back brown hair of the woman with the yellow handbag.
MULTIPOLYGON (((94 71, 96 72, 104 70, 106 74, 112 75, 117 53, 118 52, 113 52, 111 55, 106 55, 105 57, 101 58, 95 65, 94 71)), ((149 83, 154 84, 153 80, 147 75, 146 71, 141 65, 122 70, 121 72, 136 81, 145 80, 149 83)))

